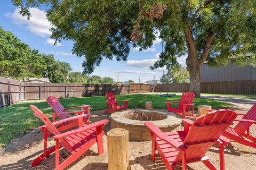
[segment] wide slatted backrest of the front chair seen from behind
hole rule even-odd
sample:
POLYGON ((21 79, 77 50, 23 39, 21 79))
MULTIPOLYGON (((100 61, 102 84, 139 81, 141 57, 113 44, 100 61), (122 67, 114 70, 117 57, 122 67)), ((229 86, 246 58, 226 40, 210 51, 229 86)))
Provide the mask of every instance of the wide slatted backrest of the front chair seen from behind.
MULTIPOLYGON (((187 146, 187 159, 196 159, 205 156, 229 125, 233 124, 237 114, 234 111, 221 109, 196 118, 183 141, 187 146)), ((175 161, 182 159, 179 152, 175 161)))

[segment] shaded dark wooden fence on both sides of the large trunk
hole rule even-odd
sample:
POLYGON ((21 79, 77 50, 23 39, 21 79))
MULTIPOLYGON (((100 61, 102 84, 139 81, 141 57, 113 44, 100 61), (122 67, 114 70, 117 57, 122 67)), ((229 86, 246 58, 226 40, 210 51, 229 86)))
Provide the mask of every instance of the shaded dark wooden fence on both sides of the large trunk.
MULTIPOLYGON (((256 80, 201 82, 204 94, 256 95, 256 80)), ((189 83, 157 84, 155 92, 189 91, 189 83)))

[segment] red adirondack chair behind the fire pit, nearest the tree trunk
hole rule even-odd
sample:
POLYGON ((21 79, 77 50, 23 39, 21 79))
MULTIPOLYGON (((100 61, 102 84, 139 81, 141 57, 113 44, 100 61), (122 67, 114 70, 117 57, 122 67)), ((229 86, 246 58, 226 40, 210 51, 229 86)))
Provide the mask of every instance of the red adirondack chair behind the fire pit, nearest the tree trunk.
POLYGON ((180 116, 182 116, 183 118, 185 118, 185 115, 196 117, 196 115, 194 114, 194 105, 195 104, 192 103, 194 97, 195 97, 195 94, 193 92, 190 92, 190 91, 183 92, 183 94, 181 95, 180 101, 165 102, 167 105, 167 111, 177 113, 180 116), (179 103, 179 107, 172 108, 171 107, 172 103, 179 103), (189 112, 191 106, 192 106, 192 113, 189 112))

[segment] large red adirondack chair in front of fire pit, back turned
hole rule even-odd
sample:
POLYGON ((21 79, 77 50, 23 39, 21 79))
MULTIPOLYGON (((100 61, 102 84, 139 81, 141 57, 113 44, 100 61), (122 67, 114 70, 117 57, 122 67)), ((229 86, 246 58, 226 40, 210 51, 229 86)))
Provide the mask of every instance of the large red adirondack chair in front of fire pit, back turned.
MULTIPOLYGON (((220 169, 225 169, 224 144, 219 138, 228 126, 233 124, 236 116, 235 112, 229 110, 212 111, 197 117, 195 121, 183 118, 183 131, 165 133, 152 122, 146 122, 145 125, 152 136, 152 160, 155 162, 157 149, 169 170, 181 165, 185 170, 188 163, 199 161, 202 161, 209 169, 217 169, 205 154, 214 144, 218 144, 220 169)), ((222 137, 222 140, 226 143, 230 142, 225 137, 222 137)))

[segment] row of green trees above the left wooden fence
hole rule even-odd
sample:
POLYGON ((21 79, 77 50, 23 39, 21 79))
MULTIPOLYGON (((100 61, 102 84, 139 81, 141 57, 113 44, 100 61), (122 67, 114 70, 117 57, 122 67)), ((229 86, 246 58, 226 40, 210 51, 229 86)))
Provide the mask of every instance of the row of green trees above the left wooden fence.
POLYGON ((69 63, 56 61, 53 55, 39 54, 31 50, 10 31, 0 27, 0 76, 22 80, 29 77, 49 78, 53 83, 115 83, 112 78, 89 77, 81 72, 71 72, 69 63), (96 79, 97 78, 97 79, 96 79))

